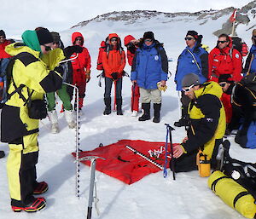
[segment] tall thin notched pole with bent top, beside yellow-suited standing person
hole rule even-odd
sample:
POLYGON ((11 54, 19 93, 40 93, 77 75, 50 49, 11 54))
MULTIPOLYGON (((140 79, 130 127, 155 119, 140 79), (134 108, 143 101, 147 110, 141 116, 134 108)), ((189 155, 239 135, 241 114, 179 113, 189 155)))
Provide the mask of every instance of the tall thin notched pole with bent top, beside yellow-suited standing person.
MULTIPOLYGON (((79 100, 79 88, 73 84, 68 84, 66 82, 63 82, 63 84, 66 84, 67 86, 73 87, 73 89, 76 92, 76 100, 77 100, 77 104, 78 104, 78 100, 79 100)), ((80 196, 80 191, 79 191, 79 152, 81 151, 79 146, 79 127, 80 122, 79 122, 79 110, 78 110, 78 106, 77 106, 77 111, 76 111, 76 130, 75 130, 75 151, 76 151, 76 196, 79 197, 80 196)))

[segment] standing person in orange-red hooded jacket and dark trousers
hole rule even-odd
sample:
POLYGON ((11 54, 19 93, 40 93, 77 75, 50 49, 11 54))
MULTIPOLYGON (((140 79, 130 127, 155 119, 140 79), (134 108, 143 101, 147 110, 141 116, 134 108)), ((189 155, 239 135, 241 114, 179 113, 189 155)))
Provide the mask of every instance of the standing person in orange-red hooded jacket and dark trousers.
POLYGON ((116 33, 108 35, 108 45, 102 53, 102 66, 105 72, 105 93, 104 115, 111 113, 111 89, 112 84, 115 84, 115 96, 117 114, 123 115, 122 112, 122 81, 125 68, 125 51, 121 47, 119 36, 116 33))

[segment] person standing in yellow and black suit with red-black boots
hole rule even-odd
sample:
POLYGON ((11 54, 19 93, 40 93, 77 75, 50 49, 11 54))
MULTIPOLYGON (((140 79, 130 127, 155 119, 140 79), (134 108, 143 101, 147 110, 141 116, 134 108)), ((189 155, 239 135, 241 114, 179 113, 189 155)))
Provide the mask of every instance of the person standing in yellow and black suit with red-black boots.
MULTIPOLYGON (((49 53, 53 38, 48 29, 26 31, 22 39, 24 43, 12 43, 5 49, 19 58, 12 68, 8 90, 11 95, 1 114, 1 141, 9 143, 7 173, 12 210, 32 212, 46 206, 43 197, 33 195, 46 192, 48 184, 37 182, 39 119, 32 117, 32 107, 27 103, 40 102, 45 93, 61 89, 62 78, 59 72, 48 70, 52 69, 49 63, 42 61, 44 56, 52 57, 49 53)), ((58 66, 63 59, 63 53, 55 54, 51 65, 58 66)))

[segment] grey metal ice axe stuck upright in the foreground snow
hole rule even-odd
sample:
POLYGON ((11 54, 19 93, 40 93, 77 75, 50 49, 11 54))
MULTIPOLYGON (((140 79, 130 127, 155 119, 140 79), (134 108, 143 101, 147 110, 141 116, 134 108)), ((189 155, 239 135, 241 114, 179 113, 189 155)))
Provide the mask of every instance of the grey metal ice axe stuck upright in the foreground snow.
MULTIPOLYGON (((93 192, 94 192, 94 188, 96 187, 95 172, 96 172, 97 158, 101 158, 101 157, 88 156, 84 158, 79 158, 79 161, 90 160, 90 190, 89 190, 87 219, 91 218, 91 212, 92 212, 93 192)), ((106 160, 106 158, 101 158, 101 159, 106 160)))

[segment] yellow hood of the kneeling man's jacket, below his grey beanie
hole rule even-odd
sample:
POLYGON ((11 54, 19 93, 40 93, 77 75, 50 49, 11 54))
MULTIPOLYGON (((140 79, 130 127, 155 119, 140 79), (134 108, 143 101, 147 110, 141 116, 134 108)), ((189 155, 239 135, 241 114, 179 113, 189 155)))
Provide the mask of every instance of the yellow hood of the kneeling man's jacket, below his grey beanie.
POLYGON ((202 84, 202 87, 200 89, 196 89, 194 93, 196 98, 200 97, 201 95, 216 95, 218 98, 220 98, 223 91, 218 83, 211 81, 202 84))

